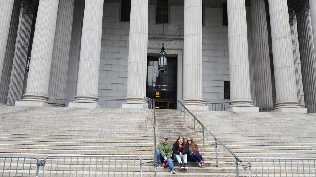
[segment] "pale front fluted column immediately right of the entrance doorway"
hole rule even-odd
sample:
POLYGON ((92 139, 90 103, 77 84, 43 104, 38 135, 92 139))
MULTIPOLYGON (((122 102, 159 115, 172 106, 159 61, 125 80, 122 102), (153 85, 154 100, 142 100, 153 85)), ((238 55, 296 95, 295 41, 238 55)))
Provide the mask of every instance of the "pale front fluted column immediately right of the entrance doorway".
POLYGON ((202 73, 202 0, 184 1, 183 95, 189 109, 206 109, 202 73), (200 108, 201 107, 201 108, 200 108))

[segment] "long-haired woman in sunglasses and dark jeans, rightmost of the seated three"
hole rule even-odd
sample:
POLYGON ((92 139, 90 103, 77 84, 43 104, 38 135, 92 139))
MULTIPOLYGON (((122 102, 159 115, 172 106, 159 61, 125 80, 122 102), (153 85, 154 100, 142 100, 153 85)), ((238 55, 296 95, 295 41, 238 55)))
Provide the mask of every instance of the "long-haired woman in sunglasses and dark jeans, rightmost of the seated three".
POLYGON ((198 164, 198 168, 205 168, 204 160, 200 152, 198 151, 197 144, 194 143, 192 137, 186 139, 186 145, 189 150, 189 160, 198 164))

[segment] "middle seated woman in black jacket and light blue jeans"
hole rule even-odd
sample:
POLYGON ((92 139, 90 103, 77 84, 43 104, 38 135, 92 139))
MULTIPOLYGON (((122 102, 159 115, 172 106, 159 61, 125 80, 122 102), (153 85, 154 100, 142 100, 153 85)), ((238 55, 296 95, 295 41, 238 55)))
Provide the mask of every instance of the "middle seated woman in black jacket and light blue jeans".
POLYGON ((180 169, 183 169, 183 168, 188 169, 187 153, 189 153, 189 150, 185 146, 184 138, 182 136, 179 136, 179 138, 173 143, 172 152, 173 152, 173 160, 179 162, 180 169))

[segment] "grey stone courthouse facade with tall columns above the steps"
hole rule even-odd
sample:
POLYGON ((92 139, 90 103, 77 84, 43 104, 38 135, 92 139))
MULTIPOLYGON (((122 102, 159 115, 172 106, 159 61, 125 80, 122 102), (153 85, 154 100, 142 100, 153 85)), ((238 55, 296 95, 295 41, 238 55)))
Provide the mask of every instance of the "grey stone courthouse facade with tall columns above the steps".
POLYGON ((308 0, 1 0, 0 102, 315 112, 315 33, 308 0))

